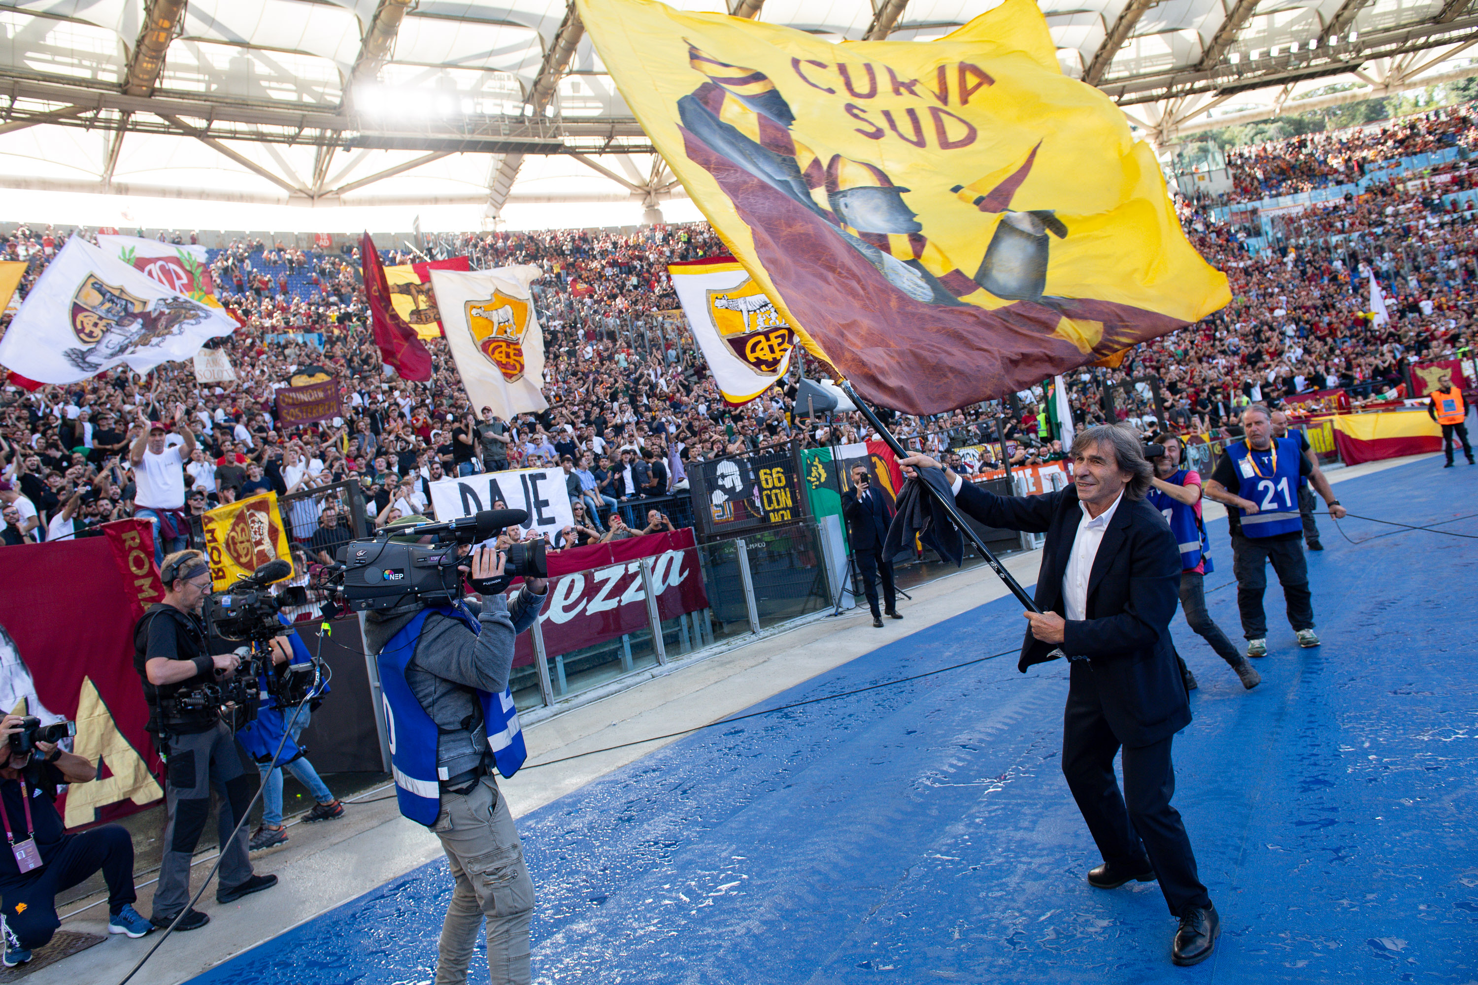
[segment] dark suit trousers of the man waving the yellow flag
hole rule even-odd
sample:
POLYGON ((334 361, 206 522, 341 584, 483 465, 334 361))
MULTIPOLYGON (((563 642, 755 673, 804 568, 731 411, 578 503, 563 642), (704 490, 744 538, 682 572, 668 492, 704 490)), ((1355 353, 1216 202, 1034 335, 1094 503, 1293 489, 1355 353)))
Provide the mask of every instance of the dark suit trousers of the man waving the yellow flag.
POLYGON ((1063 709, 1063 775, 1088 823, 1103 859, 1123 871, 1154 868, 1171 914, 1209 907, 1210 896, 1196 873, 1196 854, 1175 794, 1172 735, 1151 746, 1123 747, 1123 793, 1113 772, 1119 740, 1097 696, 1069 690, 1063 709))

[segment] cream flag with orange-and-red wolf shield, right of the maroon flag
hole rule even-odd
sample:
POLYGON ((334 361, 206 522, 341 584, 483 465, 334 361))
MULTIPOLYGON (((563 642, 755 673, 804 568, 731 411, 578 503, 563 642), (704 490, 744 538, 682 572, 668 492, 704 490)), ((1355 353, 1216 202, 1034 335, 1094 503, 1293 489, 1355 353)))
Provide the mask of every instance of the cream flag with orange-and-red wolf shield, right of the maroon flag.
POLYGON ((476 411, 500 418, 548 408, 544 399, 544 332, 529 282, 534 264, 492 270, 432 269, 432 288, 467 396, 476 411))

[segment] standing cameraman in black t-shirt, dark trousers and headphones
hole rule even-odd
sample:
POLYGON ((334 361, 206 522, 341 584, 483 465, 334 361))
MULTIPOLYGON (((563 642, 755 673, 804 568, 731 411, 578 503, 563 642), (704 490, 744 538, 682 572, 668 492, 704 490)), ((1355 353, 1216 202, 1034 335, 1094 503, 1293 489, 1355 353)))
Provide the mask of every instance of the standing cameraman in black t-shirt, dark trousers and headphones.
MULTIPOLYGON (((149 607, 133 629, 133 669, 143 679, 149 706, 149 731, 157 735, 166 763, 164 858, 154 890, 154 926, 195 930, 210 917, 189 907, 191 858, 210 815, 210 789, 219 784, 226 796, 220 805, 220 885, 216 902, 234 902, 276 885, 276 876, 256 876, 247 858, 247 826, 236 827, 251 803, 254 778, 241 768, 235 734, 222 721, 220 709, 208 703, 191 707, 177 699, 201 685, 232 678, 241 665, 225 642, 210 645, 201 611, 210 595, 210 564, 200 551, 176 551, 160 567, 164 601, 149 607), (235 836, 232 837, 232 830, 235 836)), ((273 657, 284 647, 273 641, 273 657)))

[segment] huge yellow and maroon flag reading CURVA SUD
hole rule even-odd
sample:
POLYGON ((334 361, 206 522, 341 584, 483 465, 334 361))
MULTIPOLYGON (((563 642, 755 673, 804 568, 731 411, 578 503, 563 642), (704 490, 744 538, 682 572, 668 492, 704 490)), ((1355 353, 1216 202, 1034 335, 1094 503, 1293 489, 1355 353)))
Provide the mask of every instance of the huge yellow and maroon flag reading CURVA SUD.
POLYGON ((653 145, 801 341, 934 413, 1231 298, 1153 151, 1005 0, 939 41, 832 44, 653 0, 578 0, 653 145))

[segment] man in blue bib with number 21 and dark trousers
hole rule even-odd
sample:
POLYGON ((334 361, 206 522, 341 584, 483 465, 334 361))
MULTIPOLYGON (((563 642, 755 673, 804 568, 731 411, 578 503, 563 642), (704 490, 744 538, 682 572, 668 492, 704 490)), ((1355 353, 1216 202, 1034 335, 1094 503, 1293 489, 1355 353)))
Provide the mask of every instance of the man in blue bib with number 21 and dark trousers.
MULTIPOLYGON (((1206 481, 1206 498, 1225 504, 1231 530, 1231 572, 1237 579, 1237 608, 1249 657, 1268 656, 1268 617, 1262 595, 1268 588, 1268 561, 1277 572, 1287 601, 1289 623, 1298 645, 1317 647, 1314 601, 1308 589, 1308 558, 1299 546, 1304 521, 1298 486, 1314 471, 1293 439, 1273 437, 1273 413, 1253 403, 1242 412, 1246 439, 1227 446, 1216 471, 1206 481)), ((1329 515, 1341 520, 1345 508, 1329 483, 1320 490, 1329 515)))

